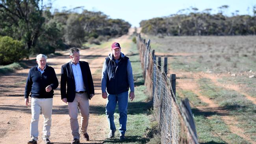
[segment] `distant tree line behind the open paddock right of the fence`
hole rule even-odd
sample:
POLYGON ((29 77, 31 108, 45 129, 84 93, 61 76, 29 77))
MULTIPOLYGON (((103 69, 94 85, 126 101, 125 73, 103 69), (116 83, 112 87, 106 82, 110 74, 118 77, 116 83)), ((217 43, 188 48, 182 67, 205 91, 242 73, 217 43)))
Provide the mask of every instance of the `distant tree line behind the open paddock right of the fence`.
POLYGON ((182 9, 168 17, 157 17, 140 22, 141 32, 150 35, 255 35, 256 5, 253 15, 239 15, 239 11, 228 17, 224 15, 229 6, 218 7, 219 13, 211 14, 212 9, 199 12, 196 7, 182 9))

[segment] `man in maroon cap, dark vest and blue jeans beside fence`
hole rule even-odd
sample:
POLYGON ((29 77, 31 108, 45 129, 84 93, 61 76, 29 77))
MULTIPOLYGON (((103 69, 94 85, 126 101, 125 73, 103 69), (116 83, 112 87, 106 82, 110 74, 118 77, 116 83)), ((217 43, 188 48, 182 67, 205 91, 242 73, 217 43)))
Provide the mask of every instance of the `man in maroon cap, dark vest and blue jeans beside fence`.
POLYGON ((132 65, 128 57, 121 53, 118 42, 111 45, 111 54, 106 57, 102 68, 101 90, 102 98, 108 98, 106 115, 110 128, 109 138, 115 137, 114 113, 118 102, 119 107, 119 133, 120 140, 125 140, 128 106, 128 90, 130 87, 130 100, 134 100, 134 78, 132 65))

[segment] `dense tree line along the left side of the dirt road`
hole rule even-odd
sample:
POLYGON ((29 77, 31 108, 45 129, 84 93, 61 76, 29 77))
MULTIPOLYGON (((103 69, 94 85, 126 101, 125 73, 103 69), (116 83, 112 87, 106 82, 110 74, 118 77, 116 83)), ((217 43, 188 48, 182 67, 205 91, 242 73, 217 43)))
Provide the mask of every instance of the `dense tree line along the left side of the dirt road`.
POLYGON ((131 27, 128 22, 111 19, 100 11, 76 7, 62 11, 55 9, 51 13, 50 9, 51 5, 43 4, 43 0, 0 0, 0 65, 30 54, 50 54, 56 49, 82 47, 85 42, 100 44, 110 37, 128 33, 131 27), (76 12, 77 9, 82 12, 76 12), (19 48, 20 54, 17 55, 12 47, 19 48))

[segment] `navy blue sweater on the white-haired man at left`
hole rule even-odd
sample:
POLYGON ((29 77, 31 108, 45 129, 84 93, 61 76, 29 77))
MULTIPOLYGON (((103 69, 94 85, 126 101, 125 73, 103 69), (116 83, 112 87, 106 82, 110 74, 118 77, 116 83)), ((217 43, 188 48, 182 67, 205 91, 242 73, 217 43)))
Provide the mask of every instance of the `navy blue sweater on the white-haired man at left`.
POLYGON ((53 90, 56 89, 58 85, 59 82, 54 68, 46 65, 45 72, 41 74, 37 69, 37 66, 34 66, 30 68, 28 73, 24 97, 28 98, 31 92, 30 96, 32 98, 52 98, 54 95, 53 90), (48 85, 52 87, 50 92, 45 91, 45 88, 48 85))

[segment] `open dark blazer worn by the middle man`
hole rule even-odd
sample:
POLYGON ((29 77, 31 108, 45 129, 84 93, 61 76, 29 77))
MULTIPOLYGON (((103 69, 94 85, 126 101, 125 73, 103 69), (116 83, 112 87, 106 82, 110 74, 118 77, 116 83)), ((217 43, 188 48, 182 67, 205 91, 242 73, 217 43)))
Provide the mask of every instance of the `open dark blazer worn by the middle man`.
MULTIPOLYGON (((93 78, 89 64, 85 61, 79 61, 83 76, 83 83, 88 94, 94 94, 93 78)), ((67 102, 73 102, 76 96, 76 85, 71 62, 61 66, 60 80, 61 99, 67 98, 67 102), (67 89, 66 89, 67 86, 67 89)))

